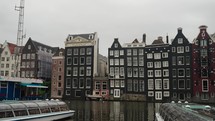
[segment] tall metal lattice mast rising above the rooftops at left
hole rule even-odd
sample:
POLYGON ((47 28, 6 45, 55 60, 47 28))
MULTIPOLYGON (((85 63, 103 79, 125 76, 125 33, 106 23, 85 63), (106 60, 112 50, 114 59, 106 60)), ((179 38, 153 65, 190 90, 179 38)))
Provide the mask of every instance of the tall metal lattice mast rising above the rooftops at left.
POLYGON ((18 31, 17 31, 17 46, 23 45, 23 27, 24 27, 24 6, 25 0, 20 0, 20 6, 15 6, 15 10, 19 11, 19 22, 18 22, 18 31))

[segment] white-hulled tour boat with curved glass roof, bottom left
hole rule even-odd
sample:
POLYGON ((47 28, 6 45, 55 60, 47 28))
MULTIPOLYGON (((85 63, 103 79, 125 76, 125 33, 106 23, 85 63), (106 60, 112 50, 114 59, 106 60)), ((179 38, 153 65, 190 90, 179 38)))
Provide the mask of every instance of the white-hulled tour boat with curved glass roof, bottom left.
POLYGON ((70 118, 74 113, 59 100, 0 102, 0 121, 53 121, 70 118))

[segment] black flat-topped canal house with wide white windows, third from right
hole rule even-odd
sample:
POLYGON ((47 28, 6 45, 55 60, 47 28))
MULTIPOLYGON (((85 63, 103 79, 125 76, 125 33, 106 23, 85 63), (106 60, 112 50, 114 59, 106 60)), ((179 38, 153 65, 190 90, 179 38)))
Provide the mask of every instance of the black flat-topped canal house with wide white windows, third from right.
POLYGON ((170 45, 162 37, 145 47, 147 101, 169 101, 171 85, 170 45))

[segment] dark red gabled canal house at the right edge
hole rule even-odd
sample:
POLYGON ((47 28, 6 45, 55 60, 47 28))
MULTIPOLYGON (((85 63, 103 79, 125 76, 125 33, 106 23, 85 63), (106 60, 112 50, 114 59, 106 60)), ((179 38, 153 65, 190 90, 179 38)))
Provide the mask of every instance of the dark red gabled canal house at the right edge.
POLYGON ((200 32, 193 41, 193 100, 214 102, 215 100, 215 42, 207 32, 207 26, 199 27, 200 32))

